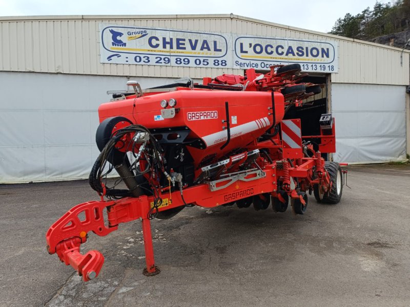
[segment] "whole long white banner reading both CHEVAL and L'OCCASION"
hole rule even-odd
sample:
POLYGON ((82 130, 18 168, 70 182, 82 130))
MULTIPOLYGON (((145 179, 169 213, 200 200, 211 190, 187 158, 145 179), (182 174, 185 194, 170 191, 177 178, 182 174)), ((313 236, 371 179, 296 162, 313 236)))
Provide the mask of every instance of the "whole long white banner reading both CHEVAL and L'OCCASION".
POLYGON ((338 45, 332 40, 301 40, 232 33, 207 33, 100 24, 100 61, 268 70, 299 63, 307 72, 338 72, 338 45))

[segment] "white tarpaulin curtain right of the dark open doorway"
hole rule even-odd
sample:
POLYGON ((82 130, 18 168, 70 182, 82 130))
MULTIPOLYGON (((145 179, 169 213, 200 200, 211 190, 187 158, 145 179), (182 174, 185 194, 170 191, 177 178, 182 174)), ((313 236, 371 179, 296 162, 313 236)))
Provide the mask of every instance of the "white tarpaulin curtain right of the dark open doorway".
POLYGON ((332 83, 338 162, 405 159, 405 86, 332 83))

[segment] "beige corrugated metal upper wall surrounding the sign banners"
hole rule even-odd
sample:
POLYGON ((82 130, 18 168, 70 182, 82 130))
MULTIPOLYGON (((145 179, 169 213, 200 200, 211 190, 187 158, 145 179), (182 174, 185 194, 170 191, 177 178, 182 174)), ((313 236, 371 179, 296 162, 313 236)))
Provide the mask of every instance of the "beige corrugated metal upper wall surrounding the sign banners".
MULTIPOLYGON (((201 78, 221 69, 100 63, 98 24, 228 32, 268 37, 339 41, 336 83, 408 84, 409 54, 367 42, 311 32, 235 15, 58 16, 0 18, 0 70, 110 76, 201 78)), ((242 73, 224 69, 223 73, 242 73)))

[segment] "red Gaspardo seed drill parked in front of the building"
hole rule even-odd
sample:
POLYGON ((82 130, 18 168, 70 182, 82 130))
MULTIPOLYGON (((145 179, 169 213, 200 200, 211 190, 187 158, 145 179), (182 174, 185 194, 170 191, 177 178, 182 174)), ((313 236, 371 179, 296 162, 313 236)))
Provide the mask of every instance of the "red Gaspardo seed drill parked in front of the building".
POLYGON ((119 224, 141 219, 147 267, 155 275, 153 218, 170 218, 185 207, 233 205, 265 210, 272 203, 296 214, 308 205, 307 192, 320 203, 338 203, 340 165, 325 162, 335 152, 335 121, 323 114, 320 135, 302 136, 301 121, 286 119, 321 85, 301 82, 299 64, 275 65, 269 73, 178 80, 168 86, 117 93, 101 104, 96 143, 101 151, 89 182, 99 201, 79 204, 47 231, 47 250, 71 265, 84 281, 95 278, 104 256, 79 247, 92 231, 98 236, 119 224), (319 140, 314 142, 312 140, 319 140), (107 180, 114 170, 119 179, 107 180), (122 181, 122 188, 118 183, 122 181), (110 184, 111 182, 111 184, 110 184), (104 212, 106 211, 106 213, 104 212))

